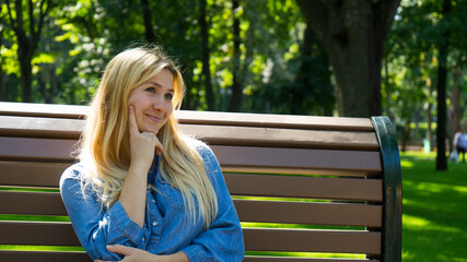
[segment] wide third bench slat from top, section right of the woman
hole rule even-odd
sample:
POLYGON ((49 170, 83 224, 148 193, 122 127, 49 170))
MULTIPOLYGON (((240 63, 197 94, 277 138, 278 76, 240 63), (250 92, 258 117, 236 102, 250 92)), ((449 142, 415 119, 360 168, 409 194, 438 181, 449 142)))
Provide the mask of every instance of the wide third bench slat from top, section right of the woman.
MULTIPOLYGON (((381 172, 378 152, 211 145, 223 167, 336 169, 381 172)), ((310 172, 312 174, 312 172, 310 172)))

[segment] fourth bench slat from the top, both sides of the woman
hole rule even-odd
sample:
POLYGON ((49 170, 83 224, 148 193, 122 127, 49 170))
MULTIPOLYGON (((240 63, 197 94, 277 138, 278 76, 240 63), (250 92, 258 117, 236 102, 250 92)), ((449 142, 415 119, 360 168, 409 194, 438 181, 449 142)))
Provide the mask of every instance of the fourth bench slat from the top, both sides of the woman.
MULTIPOLYGON (((70 164, 0 162, 0 184, 10 187, 58 188, 70 164)), ((233 195, 383 201, 381 179, 326 178, 224 172, 233 195), (288 187, 284 187, 288 184, 288 187)))

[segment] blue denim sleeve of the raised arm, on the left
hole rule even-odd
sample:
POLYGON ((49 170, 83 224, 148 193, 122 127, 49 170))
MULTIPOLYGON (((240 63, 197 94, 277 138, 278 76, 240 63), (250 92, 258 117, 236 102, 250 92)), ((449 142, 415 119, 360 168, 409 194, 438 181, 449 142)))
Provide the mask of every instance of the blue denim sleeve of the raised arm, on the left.
POLYGON ((73 229, 93 260, 122 259, 109 252, 106 249, 107 245, 120 243, 139 249, 144 248, 143 228, 129 218, 118 201, 106 210, 90 189, 85 189, 86 196, 84 196, 81 190, 80 170, 73 166, 68 168, 60 178, 60 193, 73 229))

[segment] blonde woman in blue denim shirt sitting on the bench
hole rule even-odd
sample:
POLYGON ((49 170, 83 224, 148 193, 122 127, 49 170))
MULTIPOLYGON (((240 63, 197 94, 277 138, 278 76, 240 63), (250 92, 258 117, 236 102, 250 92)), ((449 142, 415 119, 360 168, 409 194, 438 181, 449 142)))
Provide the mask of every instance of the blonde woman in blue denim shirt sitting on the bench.
POLYGON ((211 150, 177 130, 182 75, 160 48, 107 64, 60 192, 94 261, 242 261, 238 217, 211 150))

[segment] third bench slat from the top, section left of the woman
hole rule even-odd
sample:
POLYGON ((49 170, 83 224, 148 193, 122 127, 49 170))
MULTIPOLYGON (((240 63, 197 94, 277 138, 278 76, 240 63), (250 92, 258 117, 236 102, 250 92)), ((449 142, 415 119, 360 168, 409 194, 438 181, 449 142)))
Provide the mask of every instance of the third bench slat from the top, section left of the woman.
POLYGON ((48 160, 71 163, 75 140, 0 136, 0 159, 48 160))

